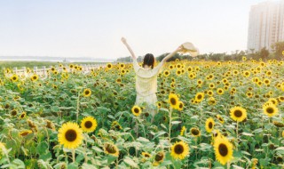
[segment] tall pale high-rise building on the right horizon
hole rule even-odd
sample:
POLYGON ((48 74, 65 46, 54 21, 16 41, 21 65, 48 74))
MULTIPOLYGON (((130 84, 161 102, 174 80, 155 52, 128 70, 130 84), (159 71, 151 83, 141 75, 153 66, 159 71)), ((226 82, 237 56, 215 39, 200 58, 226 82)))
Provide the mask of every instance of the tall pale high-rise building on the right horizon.
POLYGON ((248 52, 284 41, 284 0, 251 6, 248 20, 248 52))

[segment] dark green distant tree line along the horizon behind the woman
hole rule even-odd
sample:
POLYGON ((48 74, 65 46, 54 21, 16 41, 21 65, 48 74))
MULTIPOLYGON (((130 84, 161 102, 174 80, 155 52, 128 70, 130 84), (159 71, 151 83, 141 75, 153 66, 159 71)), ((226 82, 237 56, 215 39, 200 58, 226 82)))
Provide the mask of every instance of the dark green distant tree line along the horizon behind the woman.
MULTIPOLYGON (((175 54, 170 60, 212 60, 212 61, 228 61, 228 60, 235 60, 235 61, 241 61, 243 56, 246 56, 248 59, 253 60, 284 60, 284 42, 278 42, 275 44, 272 44, 272 52, 269 52, 265 47, 262 48, 260 51, 255 51, 255 49, 249 49, 248 51, 239 51, 236 50, 235 52, 232 52, 231 54, 227 54, 225 52, 220 53, 205 53, 198 55, 197 57, 193 58, 190 55, 182 55, 182 54, 175 54)), ((166 57, 169 54, 163 53, 160 56, 157 56, 155 59, 158 61, 161 61, 164 57, 166 57)), ((144 56, 139 56, 138 61, 143 61, 144 56)), ((118 62, 130 62, 131 57, 124 57, 119 58, 116 61, 118 62)))

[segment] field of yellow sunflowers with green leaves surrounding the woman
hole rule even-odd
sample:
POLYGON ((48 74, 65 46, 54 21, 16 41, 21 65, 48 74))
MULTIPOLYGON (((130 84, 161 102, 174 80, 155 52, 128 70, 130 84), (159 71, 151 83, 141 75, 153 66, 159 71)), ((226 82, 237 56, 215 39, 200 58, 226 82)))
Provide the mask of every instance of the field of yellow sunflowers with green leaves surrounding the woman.
POLYGON ((284 63, 176 60, 156 105, 132 64, 0 75, 0 168, 284 168, 284 63))

